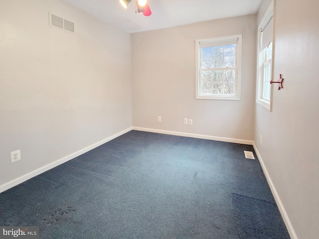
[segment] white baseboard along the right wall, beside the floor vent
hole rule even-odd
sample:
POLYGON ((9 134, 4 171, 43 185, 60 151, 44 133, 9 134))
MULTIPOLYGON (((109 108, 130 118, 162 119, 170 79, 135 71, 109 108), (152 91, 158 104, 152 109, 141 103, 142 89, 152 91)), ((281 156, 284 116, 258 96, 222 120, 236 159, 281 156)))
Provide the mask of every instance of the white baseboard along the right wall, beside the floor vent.
POLYGON ((258 149, 257 149, 257 147, 256 147, 255 142, 253 142, 253 146, 254 146, 255 152, 256 152, 256 154, 257 154, 257 157, 258 157, 258 159, 259 159, 259 162, 260 162, 260 164, 261 164, 261 167, 263 168, 263 171, 264 171, 264 174, 265 174, 265 176, 266 176, 266 179, 267 179, 267 182, 268 182, 268 184, 269 184, 269 187, 270 187, 270 189, 271 189, 271 191, 272 191, 272 193, 273 193, 273 195, 274 195, 274 198, 275 198, 275 200, 276 200, 276 203, 277 203, 277 206, 278 206, 279 211, 280 211, 280 213, 281 213, 281 216, 282 216, 283 219, 284 219, 284 222, 285 222, 285 225, 286 225, 286 227, 287 227, 289 236, 290 236, 292 239, 298 239, 298 238, 297 238, 297 235, 296 235, 296 233, 295 233, 295 230, 294 230, 294 228, 293 228, 293 225, 291 224, 291 222, 290 222, 290 220, 289 220, 289 218, 288 218, 288 215, 287 215, 287 213, 286 213, 286 210, 285 210, 285 208, 284 208, 284 205, 283 205, 283 203, 281 202, 281 200, 280 200, 280 198, 279 198, 279 195, 278 195, 278 193, 277 193, 277 190, 276 190, 276 188, 275 188, 275 185, 273 184, 273 181, 272 181, 271 178, 270 178, 270 175, 269 175, 269 173, 268 173, 268 171, 267 171, 267 168, 266 168, 266 166, 265 166, 265 163, 264 163, 264 161, 263 161, 263 159, 262 159, 262 157, 261 157, 261 155, 260 155, 260 153, 259 153, 259 151, 258 151, 258 149))

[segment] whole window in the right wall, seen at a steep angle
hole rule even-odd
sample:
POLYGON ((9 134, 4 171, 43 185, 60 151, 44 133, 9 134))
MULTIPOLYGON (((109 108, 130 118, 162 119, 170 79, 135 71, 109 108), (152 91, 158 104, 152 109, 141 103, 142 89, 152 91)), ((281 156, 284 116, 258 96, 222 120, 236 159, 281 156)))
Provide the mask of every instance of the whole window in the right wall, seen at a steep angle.
POLYGON ((273 68, 273 11, 271 2, 258 26, 257 94, 256 102, 271 110, 273 68))

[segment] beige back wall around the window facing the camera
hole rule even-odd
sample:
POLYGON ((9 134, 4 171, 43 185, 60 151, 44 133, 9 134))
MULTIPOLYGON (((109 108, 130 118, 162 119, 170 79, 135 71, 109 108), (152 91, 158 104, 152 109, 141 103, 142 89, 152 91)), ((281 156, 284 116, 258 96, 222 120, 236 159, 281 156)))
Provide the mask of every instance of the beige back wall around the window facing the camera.
POLYGON ((133 126, 252 140, 256 26, 249 15, 132 34, 133 126), (241 101, 195 100, 195 40, 241 33, 241 101))

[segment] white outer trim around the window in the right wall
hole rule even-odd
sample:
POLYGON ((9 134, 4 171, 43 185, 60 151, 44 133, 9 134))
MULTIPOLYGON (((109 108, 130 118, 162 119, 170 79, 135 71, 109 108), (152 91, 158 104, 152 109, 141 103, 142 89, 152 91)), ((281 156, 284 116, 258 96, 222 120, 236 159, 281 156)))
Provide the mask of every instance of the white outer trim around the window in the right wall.
MULTIPOLYGON (((256 103, 264 108, 266 108, 269 111, 272 111, 272 102, 273 102, 273 86, 271 85, 270 88, 270 101, 266 101, 262 98, 259 98, 259 96, 261 95, 260 93, 260 79, 259 79, 259 59, 260 59, 260 55, 259 53, 261 52, 260 50, 260 44, 261 44, 261 34, 260 34, 260 29, 263 29, 268 22, 270 21, 270 19, 273 17, 274 18, 274 0, 272 0, 266 10, 266 12, 264 13, 263 18, 261 19, 259 25, 258 25, 258 44, 257 44, 257 87, 256 87, 256 103)), ((274 79, 274 51, 275 51, 275 42, 274 42, 274 28, 273 28, 273 52, 272 52, 272 69, 271 69, 271 80, 274 79)), ((264 84, 264 83, 262 83, 264 84)))

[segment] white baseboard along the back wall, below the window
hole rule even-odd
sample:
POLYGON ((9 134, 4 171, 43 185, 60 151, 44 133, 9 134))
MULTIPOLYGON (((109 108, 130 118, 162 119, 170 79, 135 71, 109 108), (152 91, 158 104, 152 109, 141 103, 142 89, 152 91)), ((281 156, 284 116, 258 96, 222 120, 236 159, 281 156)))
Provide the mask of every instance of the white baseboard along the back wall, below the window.
POLYGON ((191 138, 210 139, 210 140, 230 142, 230 143, 241 143, 241 144, 253 145, 252 140, 245 140, 245 139, 216 137, 216 136, 210 136, 210 135, 204 135, 204 134, 183 133, 183 132, 168 131, 168 130, 161 130, 161 129, 154 129, 154 128, 142 128, 142 127, 133 127, 133 130, 147 131, 147 132, 153 132, 153 133, 163 133, 163 134, 170 134, 170 135, 177 135, 177 136, 184 136, 184 137, 191 137, 191 138))

